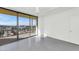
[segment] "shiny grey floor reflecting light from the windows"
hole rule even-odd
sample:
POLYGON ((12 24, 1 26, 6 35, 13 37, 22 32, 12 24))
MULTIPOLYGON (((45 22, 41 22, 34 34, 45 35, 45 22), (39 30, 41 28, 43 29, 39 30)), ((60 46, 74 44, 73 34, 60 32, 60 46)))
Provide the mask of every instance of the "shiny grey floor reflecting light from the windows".
POLYGON ((0 51, 79 51, 79 45, 50 37, 31 37, 0 46, 0 51))

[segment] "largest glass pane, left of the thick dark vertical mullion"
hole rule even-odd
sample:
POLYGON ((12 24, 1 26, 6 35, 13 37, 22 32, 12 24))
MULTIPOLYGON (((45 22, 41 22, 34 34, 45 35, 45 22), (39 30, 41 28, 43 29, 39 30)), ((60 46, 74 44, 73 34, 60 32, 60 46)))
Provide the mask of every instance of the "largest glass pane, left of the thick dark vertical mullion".
POLYGON ((0 9, 0 43, 7 43, 17 39, 17 13, 0 9), (3 41, 3 39, 5 39, 3 41))

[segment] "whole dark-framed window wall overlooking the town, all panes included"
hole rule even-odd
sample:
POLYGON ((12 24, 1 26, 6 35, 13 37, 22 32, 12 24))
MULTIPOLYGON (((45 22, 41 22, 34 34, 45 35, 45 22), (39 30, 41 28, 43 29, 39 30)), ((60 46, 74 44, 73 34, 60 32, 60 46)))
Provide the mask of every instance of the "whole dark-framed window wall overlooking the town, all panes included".
POLYGON ((0 8, 0 43, 26 38, 37 33, 37 16, 0 8))

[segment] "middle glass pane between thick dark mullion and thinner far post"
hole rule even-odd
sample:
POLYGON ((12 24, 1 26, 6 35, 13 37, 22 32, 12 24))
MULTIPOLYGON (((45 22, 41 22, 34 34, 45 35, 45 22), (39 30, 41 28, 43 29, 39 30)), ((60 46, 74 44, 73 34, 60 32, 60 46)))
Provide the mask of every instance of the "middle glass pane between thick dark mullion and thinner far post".
POLYGON ((29 32, 29 17, 27 17, 27 15, 19 14, 19 38, 29 37, 29 32))

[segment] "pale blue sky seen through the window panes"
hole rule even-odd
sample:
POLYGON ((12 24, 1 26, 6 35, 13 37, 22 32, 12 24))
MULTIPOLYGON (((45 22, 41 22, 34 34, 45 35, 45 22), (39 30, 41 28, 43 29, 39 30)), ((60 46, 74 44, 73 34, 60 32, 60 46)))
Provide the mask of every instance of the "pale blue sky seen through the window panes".
MULTIPOLYGON (((17 16, 0 14, 0 25, 17 25, 17 16)), ((29 25, 29 19, 24 17, 19 17, 20 25, 29 25)), ((33 21, 33 25, 36 25, 36 21, 33 21)))

